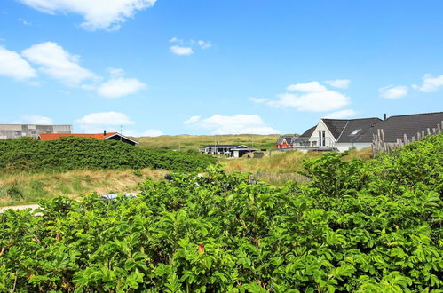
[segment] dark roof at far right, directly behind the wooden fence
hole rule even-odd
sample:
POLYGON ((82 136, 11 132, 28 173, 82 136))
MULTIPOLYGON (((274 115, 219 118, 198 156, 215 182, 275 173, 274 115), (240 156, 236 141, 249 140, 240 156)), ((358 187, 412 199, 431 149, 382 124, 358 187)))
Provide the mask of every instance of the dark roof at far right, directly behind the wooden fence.
POLYGON ((403 139, 404 134, 408 139, 411 139, 418 131, 437 128, 437 124, 441 125, 442 121, 443 112, 392 116, 377 123, 375 127, 354 139, 354 142, 372 142, 373 134, 376 134, 378 129, 383 129, 386 142, 396 142, 397 139, 403 139))

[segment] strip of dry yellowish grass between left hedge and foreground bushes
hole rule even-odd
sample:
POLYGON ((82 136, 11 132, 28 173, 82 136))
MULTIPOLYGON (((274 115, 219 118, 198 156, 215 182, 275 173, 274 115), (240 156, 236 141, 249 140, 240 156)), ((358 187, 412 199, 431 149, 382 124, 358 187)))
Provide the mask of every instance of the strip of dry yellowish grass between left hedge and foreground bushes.
POLYGON ((0 206, 36 203, 57 195, 137 192, 147 178, 159 180, 162 170, 75 170, 44 173, 0 173, 0 206))

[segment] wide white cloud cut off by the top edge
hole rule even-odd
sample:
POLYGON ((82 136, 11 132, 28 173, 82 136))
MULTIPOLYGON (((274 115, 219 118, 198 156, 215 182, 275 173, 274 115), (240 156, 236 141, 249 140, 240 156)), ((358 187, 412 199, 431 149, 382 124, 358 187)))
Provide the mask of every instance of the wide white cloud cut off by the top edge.
POLYGON ((136 12, 152 7, 156 0, 19 0, 44 13, 72 12, 83 16, 82 27, 90 30, 118 29, 136 12))

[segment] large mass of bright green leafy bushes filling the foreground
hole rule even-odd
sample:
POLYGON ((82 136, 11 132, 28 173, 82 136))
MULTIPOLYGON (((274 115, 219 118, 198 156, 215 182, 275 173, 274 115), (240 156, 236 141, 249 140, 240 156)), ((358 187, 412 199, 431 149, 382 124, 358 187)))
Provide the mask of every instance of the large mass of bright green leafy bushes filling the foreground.
POLYGON ((0 290, 440 292, 443 135, 368 162, 306 162, 305 186, 218 167, 107 204, 0 214, 0 290))

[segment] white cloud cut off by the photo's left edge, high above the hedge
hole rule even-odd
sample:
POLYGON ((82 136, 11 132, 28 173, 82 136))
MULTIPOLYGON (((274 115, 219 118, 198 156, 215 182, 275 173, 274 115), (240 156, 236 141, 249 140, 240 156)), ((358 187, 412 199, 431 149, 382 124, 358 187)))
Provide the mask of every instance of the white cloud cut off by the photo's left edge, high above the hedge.
POLYGON ((0 75, 9 76, 18 80, 36 77, 29 63, 15 51, 9 51, 0 46, 0 75))

